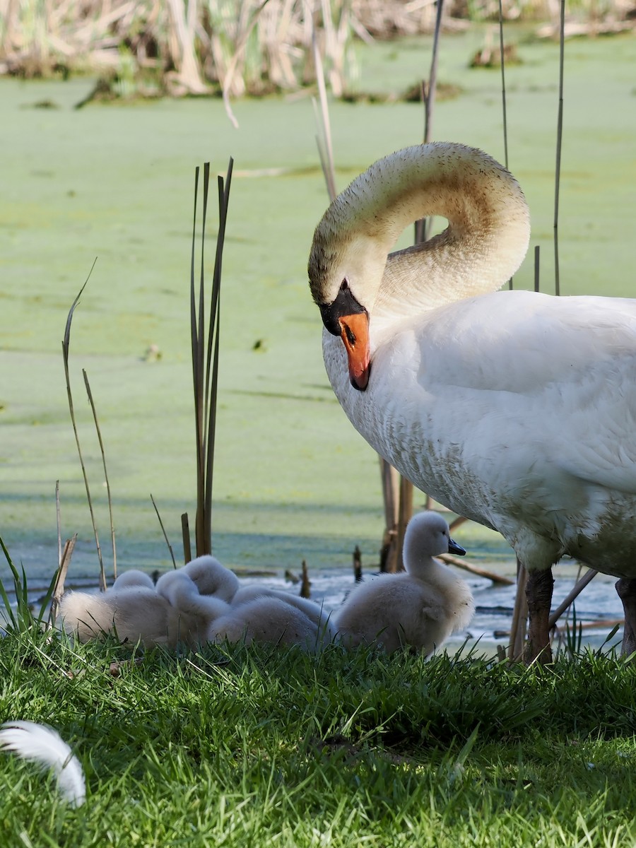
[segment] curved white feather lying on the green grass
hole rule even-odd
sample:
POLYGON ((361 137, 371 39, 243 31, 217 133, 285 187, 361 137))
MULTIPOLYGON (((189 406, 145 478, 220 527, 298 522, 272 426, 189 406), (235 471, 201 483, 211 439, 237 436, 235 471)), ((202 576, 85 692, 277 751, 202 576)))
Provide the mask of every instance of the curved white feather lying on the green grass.
POLYGON ((35 762, 42 771, 53 769, 59 791, 71 806, 81 806, 86 800, 81 763, 53 728, 36 722, 5 722, 0 730, 0 748, 35 762))

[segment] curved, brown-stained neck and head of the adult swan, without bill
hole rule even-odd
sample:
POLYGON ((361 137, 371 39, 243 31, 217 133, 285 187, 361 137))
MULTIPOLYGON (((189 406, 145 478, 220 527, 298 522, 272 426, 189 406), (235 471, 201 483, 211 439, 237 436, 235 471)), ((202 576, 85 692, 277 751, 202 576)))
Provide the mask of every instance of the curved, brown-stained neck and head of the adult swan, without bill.
POLYGON ((475 148, 434 142, 380 159, 336 198, 317 226, 310 287, 332 303, 347 279, 370 313, 415 310, 496 291, 515 273, 530 235, 515 178, 475 148), (389 254, 414 220, 439 215, 447 229, 389 254))

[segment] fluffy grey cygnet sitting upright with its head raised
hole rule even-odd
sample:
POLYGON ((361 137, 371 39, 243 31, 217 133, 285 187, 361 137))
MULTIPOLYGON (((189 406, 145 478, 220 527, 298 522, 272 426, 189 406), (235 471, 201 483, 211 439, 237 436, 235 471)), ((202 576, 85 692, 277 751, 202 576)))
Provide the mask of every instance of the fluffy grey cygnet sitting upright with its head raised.
POLYGON ((404 534, 406 572, 358 583, 336 615, 334 627, 347 647, 377 642, 389 653, 411 645, 425 656, 450 633, 465 628, 475 611, 471 590, 439 554, 466 551, 450 538, 436 512, 411 518, 404 534))

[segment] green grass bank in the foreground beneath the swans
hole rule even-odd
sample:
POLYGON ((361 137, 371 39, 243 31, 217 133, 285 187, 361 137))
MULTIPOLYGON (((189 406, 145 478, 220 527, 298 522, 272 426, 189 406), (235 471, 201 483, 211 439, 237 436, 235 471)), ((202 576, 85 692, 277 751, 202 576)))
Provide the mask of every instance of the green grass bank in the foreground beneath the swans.
POLYGON ((86 806, 0 756, 4 845, 628 845, 636 668, 16 633, 0 714, 59 729, 86 806), (21 836, 20 834, 26 834, 21 836))

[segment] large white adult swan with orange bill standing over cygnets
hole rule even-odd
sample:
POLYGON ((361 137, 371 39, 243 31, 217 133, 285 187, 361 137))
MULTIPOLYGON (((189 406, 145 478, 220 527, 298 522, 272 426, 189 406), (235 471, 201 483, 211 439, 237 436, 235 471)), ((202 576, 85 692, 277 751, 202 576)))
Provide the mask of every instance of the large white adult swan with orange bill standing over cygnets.
POLYGON ((636 301, 496 290, 526 254, 515 178, 434 142, 380 159, 315 230, 326 371, 379 454, 527 566, 526 659, 550 659, 551 566, 623 578, 636 649, 636 301), (448 228, 389 254, 405 226, 448 228))

